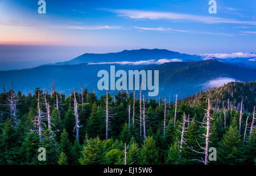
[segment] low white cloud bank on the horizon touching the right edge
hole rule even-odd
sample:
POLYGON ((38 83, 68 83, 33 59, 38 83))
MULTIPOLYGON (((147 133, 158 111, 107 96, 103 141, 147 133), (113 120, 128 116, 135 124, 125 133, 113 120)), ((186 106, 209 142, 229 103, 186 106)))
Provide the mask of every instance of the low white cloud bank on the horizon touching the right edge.
POLYGON ((201 57, 204 57, 204 59, 209 59, 209 58, 218 58, 218 59, 233 59, 233 58, 251 58, 251 57, 256 57, 256 53, 217 53, 217 54, 197 54, 200 55, 201 57))

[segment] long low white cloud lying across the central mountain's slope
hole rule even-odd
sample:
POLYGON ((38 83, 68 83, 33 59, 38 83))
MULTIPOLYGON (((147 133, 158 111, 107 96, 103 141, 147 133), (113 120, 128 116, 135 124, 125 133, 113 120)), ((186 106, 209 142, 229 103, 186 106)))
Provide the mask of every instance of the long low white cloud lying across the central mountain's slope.
POLYGON ((167 58, 162 58, 162 59, 151 59, 147 61, 136 61, 136 62, 130 62, 130 61, 122 61, 122 62, 92 62, 88 63, 88 65, 102 65, 102 64, 119 64, 119 65, 150 65, 150 64, 163 64, 163 63, 169 63, 169 62, 182 62, 181 59, 167 59, 167 58))

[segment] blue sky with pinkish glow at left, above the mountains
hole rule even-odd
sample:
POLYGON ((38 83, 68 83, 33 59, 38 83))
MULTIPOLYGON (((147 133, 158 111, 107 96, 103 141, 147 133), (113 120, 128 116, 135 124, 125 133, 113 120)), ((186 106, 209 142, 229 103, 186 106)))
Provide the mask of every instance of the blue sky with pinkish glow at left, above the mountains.
POLYGON ((256 1, 0 0, 0 70, 84 53, 168 49, 187 54, 256 52, 256 1))

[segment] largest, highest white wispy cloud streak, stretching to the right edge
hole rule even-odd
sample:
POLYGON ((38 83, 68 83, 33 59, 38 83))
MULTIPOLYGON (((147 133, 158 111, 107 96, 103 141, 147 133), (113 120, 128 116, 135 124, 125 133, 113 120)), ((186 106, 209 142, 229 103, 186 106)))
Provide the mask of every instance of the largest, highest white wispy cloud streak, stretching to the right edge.
POLYGON ((131 19, 171 19, 171 20, 188 20, 191 22, 201 23, 233 23, 233 24, 250 24, 256 25, 256 21, 241 21, 236 19, 218 18, 213 16, 201 16, 192 14, 182 14, 176 12, 160 12, 146 10, 127 10, 127 9, 102 9, 114 12, 118 16, 125 16, 131 19))

